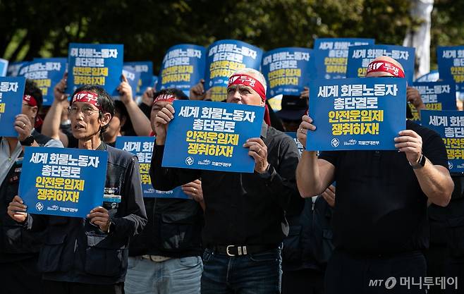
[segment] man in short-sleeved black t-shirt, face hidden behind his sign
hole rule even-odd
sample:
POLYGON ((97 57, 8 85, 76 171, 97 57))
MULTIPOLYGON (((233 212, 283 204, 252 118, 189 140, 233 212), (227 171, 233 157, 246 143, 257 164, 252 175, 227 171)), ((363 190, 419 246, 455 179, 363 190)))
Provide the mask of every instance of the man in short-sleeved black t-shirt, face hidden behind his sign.
MULTIPOLYGON (((386 56, 369 68, 367 77, 404 78, 401 64, 386 56)), ((298 140, 305 145, 307 131, 315 129, 312 118, 303 116, 298 140)), ((413 283, 426 273, 421 250, 429 243, 427 202, 446 206, 453 181, 437 133, 406 121, 394 140, 394 151, 321 152, 319 159, 305 151, 298 164, 303 197, 336 180, 336 249, 326 269, 326 293, 384 293, 392 285, 388 293, 425 293, 413 283)))

